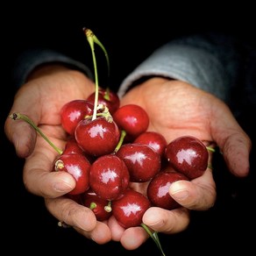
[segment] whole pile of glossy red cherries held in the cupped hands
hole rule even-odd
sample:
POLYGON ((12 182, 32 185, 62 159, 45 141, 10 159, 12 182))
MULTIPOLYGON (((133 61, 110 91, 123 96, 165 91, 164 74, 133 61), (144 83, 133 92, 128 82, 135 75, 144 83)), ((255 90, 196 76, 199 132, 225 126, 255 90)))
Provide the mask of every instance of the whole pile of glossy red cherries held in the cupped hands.
POLYGON ((100 89, 96 118, 95 93, 66 103, 60 112, 70 139, 54 163, 76 181, 68 194, 94 211, 97 220, 111 215, 124 228, 138 226, 151 206, 173 210, 179 204, 168 194, 171 183, 191 180, 208 166, 208 149, 195 137, 169 144, 158 132, 148 132, 146 110, 136 104, 120 107, 116 93, 100 89), (145 183, 146 191, 135 191, 145 183))

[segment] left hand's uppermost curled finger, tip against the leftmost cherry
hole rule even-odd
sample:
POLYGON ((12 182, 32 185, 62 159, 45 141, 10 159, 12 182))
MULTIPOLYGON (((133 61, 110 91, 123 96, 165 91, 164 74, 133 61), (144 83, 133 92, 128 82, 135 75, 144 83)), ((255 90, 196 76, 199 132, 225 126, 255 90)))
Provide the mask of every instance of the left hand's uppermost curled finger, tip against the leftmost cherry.
POLYGON ((37 148, 25 160, 23 179, 25 188, 34 195, 54 198, 75 188, 75 179, 67 172, 54 172, 56 157, 47 146, 37 148))

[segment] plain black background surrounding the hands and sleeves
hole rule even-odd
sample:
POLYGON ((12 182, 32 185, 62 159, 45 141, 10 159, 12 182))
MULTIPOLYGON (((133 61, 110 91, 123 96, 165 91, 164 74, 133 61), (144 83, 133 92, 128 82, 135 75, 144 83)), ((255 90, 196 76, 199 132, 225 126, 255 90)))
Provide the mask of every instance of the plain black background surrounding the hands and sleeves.
MULTIPOLYGON (((46 211, 43 199, 25 190, 22 181, 24 160, 18 159, 13 146, 4 136, 4 120, 11 109, 16 90, 11 84, 11 65, 17 54, 25 48, 49 46, 86 62, 92 68, 89 45, 82 33, 82 27, 87 26, 96 33, 109 53, 111 85, 117 89, 141 60, 177 35, 217 31, 235 34, 255 44, 253 8, 245 4, 224 7, 210 3, 198 7, 183 3, 175 6, 159 1, 147 4, 140 10, 137 4, 125 3, 113 4, 112 7, 99 3, 69 3, 54 8, 51 4, 34 5, 25 8, 23 4, 14 4, 2 9, 6 17, 1 21, 3 84, 0 98, 4 247, 10 254, 18 252, 26 255, 37 252, 64 255, 69 252, 73 255, 159 255, 151 239, 139 249, 129 252, 118 243, 96 245, 72 229, 61 229, 57 220, 46 211)), ((96 54, 99 58, 99 75, 104 81, 105 60, 100 50, 96 54)), ((238 118, 252 142, 255 140, 255 124, 252 124, 254 116, 254 106, 248 105, 238 118)), ((208 211, 192 212, 188 230, 175 235, 160 234, 167 255, 176 252, 231 254, 238 251, 247 255, 255 251, 251 239, 255 230, 254 155, 252 148, 251 173, 245 179, 232 176, 221 156, 216 155, 214 175, 217 203, 208 211)))

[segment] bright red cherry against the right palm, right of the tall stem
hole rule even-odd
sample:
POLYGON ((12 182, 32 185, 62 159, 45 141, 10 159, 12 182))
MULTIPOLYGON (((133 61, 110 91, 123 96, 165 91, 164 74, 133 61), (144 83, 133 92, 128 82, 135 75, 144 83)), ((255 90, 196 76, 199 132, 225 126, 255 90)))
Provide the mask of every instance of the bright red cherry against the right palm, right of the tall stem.
POLYGON ((127 104, 120 107, 113 114, 113 118, 121 130, 127 133, 128 138, 135 139, 142 132, 146 132, 149 117, 139 105, 127 104))

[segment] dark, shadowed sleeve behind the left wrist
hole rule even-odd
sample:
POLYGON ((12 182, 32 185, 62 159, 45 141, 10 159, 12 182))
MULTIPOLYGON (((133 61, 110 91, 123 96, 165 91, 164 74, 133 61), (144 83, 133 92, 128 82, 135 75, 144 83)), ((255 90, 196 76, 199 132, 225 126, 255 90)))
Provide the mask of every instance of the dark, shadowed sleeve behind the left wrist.
POLYGON ((93 77, 89 68, 82 64, 82 62, 53 50, 35 48, 27 50, 18 56, 12 74, 14 85, 17 87, 21 86, 34 68, 46 63, 62 63, 68 67, 81 70, 90 78, 93 77))

